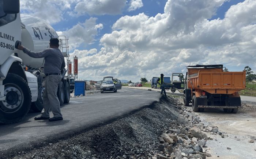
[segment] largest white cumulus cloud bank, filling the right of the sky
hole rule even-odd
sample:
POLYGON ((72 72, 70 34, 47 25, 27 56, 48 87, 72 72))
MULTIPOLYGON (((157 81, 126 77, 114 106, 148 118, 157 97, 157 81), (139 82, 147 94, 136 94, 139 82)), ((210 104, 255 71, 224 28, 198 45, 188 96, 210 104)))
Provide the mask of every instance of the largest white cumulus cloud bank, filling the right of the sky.
POLYGON ((256 68, 256 1, 245 0, 231 6, 224 19, 208 20, 224 2, 168 0, 164 13, 154 17, 121 17, 102 36, 100 51, 81 51, 80 75, 139 80, 170 76, 193 64, 256 68))

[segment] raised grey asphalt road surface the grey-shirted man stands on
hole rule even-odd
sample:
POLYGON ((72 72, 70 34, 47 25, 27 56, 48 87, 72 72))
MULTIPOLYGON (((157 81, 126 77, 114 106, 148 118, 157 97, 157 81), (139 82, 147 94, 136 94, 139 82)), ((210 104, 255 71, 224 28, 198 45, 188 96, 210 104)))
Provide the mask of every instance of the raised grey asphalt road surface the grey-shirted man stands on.
MULTIPOLYGON (((72 98, 61 108, 64 120, 35 121, 39 113, 29 113, 23 121, 0 125, 0 151, 38 145, 44 141, 65 138, 158 102, 159 92, 122 88, 117 93, 97 93, 72 98)), ((52 114, 51 114, 52 116, 52 114)), ((1 156, 1 153, 0 153, 1 156)), ((1 157, 0 157, 1 158, 1 157)))

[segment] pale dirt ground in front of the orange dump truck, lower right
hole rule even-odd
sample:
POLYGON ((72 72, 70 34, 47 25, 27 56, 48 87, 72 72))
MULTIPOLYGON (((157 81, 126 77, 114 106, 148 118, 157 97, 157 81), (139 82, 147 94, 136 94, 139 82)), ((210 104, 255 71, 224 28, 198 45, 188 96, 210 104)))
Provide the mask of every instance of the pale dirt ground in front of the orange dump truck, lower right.
POLYGON ((222 109, 206 109, 204 112, 195 113, 205 125, 217 126, 227 135, 221 138, 219 135, 208 133, 217 141, 208 140, 206 146, 209 147, 212 157, 207 158, 256 158, 256 143, 248 142, 250 139, 256 139, 256 103, 242 102, 242 106, 243 108, 239 109, 236 114, 224 113, 222 109), (227 150, 227 147, 231 150, 227 150))

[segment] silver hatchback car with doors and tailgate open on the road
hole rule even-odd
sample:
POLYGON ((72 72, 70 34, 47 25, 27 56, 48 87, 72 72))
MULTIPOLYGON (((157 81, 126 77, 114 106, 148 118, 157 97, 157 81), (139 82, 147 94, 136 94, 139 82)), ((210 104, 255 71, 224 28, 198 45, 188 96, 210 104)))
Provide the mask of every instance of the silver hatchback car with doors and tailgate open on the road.
POLYGON ((121 89, 121 83, 115 83, 113 80, 103 80, 101 83, 101 93, 103 92, 117 92, 121 89))

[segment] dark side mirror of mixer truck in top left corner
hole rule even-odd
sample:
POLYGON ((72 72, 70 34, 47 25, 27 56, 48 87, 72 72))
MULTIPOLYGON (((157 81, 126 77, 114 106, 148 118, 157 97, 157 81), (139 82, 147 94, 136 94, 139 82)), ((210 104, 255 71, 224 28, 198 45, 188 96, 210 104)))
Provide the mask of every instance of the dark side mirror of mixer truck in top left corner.
POLYGON ((4 0, 4 13, 19 13, 19 0, 4 0))

